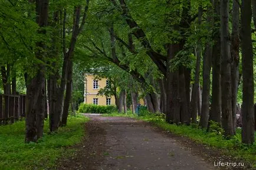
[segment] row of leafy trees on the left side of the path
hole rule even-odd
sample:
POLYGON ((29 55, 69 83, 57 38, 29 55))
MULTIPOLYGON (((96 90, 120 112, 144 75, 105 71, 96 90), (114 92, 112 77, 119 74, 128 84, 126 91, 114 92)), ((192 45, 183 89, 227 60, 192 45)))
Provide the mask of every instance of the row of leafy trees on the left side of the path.
POLYGON ((89 1, 1 1, 2 85, 4 94, 17 94, 17 78, 25 82, 25 142, 43 135, 47 105, 51 132, 67 124, 74 48, 88 5, 89 1))

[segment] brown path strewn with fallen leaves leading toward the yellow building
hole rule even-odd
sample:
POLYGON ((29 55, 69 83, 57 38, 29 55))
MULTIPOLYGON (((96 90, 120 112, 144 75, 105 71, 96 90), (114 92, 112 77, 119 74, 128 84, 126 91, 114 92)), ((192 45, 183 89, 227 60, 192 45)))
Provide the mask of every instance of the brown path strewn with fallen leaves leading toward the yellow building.
POLYGON ((208 170, 218 169, 214 161, 222 161, 218 153, 201 152, 200 145, 191 148, 186 140, 177 141, 142 121, 97 115, 90 119, 77 155, 61 160, 58 169, 208 170))

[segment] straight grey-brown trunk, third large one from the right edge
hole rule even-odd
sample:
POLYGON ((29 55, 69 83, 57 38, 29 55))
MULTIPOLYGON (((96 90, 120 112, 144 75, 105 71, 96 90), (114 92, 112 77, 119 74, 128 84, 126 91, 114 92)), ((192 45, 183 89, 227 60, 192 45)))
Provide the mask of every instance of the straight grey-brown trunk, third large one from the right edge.
POLYGON ((234 135, 232 118, 231 54, 229 37, 229 1, 221 1, 221 111, 225 136, 234 135))

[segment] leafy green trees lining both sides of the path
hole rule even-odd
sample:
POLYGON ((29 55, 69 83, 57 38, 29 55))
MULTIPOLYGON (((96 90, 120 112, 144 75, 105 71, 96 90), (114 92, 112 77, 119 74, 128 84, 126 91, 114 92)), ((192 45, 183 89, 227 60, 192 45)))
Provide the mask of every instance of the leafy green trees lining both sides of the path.
POLYGON ((120 112, 144 98, 170 124, 214 121, 227 137, 240 103, 242 142, 254 143, 255 0, 1 0, 0 25, 0 91, 27 94, 25 142, 47 117, 51 132, 66 125, 97 72, 120 112))

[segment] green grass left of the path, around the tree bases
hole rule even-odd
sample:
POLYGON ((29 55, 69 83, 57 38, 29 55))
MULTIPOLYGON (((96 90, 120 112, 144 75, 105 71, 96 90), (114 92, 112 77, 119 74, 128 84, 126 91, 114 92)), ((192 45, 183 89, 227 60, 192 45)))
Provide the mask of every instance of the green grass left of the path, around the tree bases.
POLYGON ((0 169, 47 169, 54 168, 61 156, 74 153, 71 146, 81 141, 84 135, 85 116, 69 117, 66 127, 54 134, 47 134, 48 121, 45 121, 44 136, 38 143, 24 144, 25 121, 0 126, 0 169))

